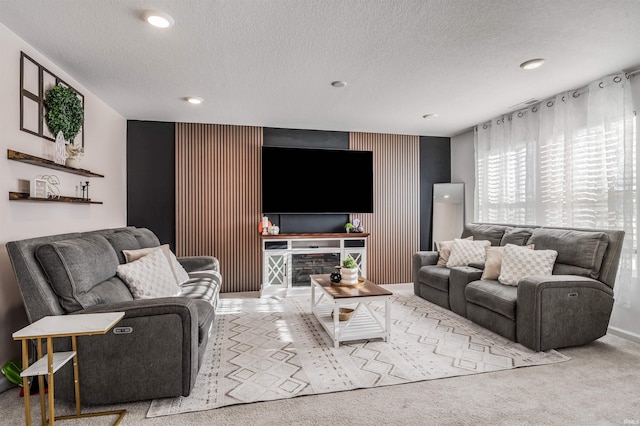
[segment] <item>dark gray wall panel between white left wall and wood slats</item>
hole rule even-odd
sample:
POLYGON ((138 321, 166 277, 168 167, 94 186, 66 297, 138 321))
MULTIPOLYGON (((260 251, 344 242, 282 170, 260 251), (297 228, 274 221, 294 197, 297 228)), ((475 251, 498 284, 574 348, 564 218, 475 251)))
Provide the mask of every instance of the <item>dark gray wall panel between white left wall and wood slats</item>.
POLYGON ((175 124, 127 121, 127 224, 151 229, 175 253, 175 124))

